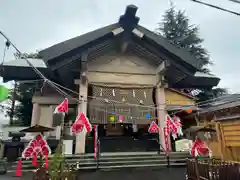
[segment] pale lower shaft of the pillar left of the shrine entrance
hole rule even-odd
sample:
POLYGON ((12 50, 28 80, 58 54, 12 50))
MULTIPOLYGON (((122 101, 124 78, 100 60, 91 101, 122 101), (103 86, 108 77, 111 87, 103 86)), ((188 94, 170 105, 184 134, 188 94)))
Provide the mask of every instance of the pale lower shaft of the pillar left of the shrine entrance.
MULTIPOLYGON (((85 83, 79 83, 79 99, 81 100, 87 100, 88 97, 88 83, 87 81, 85 83)), ((85 115, 87 115, 87 102, 82 101, 78 105, 78 112, 83 112, 85 115)), ((83 128, 83 131, 81 133, 78 133, 76 135, 76 147, 75 147, 75 153, 85 153, 85 140, 86 140, 86 129, 83 128)))

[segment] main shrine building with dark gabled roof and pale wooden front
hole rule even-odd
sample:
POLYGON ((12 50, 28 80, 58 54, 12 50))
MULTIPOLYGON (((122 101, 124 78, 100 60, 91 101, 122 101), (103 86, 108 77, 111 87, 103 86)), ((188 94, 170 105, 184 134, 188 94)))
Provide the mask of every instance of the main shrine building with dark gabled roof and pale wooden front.
MULTIPOLYGON (((82 111, 92 124, 99 124, 102 139, 120 137, 133 126, 144 134, 153 120, 163 127, 167 111, 194 106, 194 98, 182 89, 212 88, 220 81, 201 72, 201 59, 139 25, 136 12, 137 7, 129 5, 116 23, 55 44, 40 51, 37 59, 29 59, 81 102, 69 98, 72 112, 82 111)), ((5 62, 3 67, 5 82, 40 79, 24 59, 5 62)), ((32 125, 52 127, 54 107, 64 96, 53 85, 41 82, 38 87, 32 99, 32 125)), ((162 133, 159 139, 164 147, 162 133)), ((85 132, 76 136, 75 153, 85 152, 85 141, 85 132)), ((109 141, 121 144, 118 138, 109 141)))

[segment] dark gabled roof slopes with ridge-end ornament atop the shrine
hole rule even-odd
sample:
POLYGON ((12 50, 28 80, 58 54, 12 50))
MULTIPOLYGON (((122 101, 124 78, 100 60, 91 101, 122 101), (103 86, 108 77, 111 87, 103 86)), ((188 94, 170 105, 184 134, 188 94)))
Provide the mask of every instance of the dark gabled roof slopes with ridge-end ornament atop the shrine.
POLYGON ((114 29, 121 26, 123 29, 136 28, 137 30, 144 34, 145 38, 153 41, 155 45, 159 46, 159 48, 163 49, 163 51, 172 54, 172 56, 177 57, 179 61, 187 63, 189 66, 192 66, 192 68, 196 70, 200 69, 202 64, 201 61, 192 56, 186 49, 183 48, 179 49, 162 36, 157 35, 156 33, 138 25, 139 18, 135 16, 136 11, 137 11, 136 6, 129 5, 126 8, 125 14, 120 17, 118 23, 99 28, 92 32, 53 45, 49 48, 40 51, 39 55, 40 57, 43 58, 45 62, 47 62, 48 60, 57 58, 58 56, 61 56, 74 49, 81 48, 84 45, 96 41, 101 37, 112 34, 112 31, 114 29), (124 22, 125 24, 123 24, 124 22))

